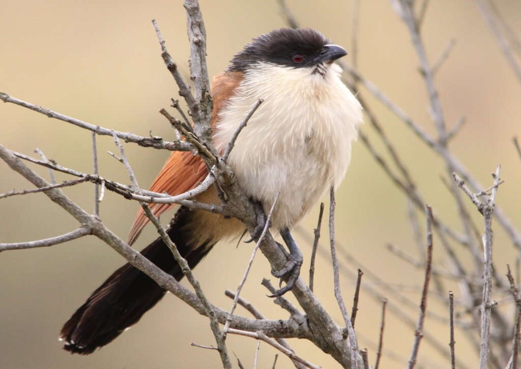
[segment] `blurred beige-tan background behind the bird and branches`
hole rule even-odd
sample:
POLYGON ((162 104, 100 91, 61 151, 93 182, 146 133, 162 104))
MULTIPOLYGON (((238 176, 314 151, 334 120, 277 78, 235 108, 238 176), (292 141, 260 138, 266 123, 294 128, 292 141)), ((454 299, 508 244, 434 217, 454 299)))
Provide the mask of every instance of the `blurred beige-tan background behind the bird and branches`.
MULTIPOLYGON (((418 73, 418 59, 404 23, 387 0, 361 3, 358 69, 434 135, 424 81, 418 73)), ((497 0, 494 4, 517 37, 521 36, 521 2, 497 0)), ((288 5, 302 26, 320 30, 348 51, 351 49, 353 1, 289 0, 288 5)), ((178 88, 160 57, 151 20, 157 20, 170 54, 184 75, 188 75, 185 13, 180 1, 49 0, 4 2, 2 7, 0 91, 106 128, 140 135, 152 132, 173 139, 169 124, 158 111, 170 105, 170 97, 176 97, 178 88)), ((201 8, 211 75, 226 68, 231 56, 252 37, 286 26, 275 0, 202 0, 201 8)), ((521 134, 519 80, 475 2, 430 2, 421 31, 431 64, 451 39, 456 42, 449 59, 436 74, 449 129, 462 116, 466 117, 466 124, 450 144, 452 152, 485 186, 491 185, 490 173, 501 163, 501 177, 506 182, 499 189, 497 203, 515 225, 521 226, 521 161, 512 145, 512 137, 521 134)), ((344 60, 351 63, 350 57, 344 60)), ((364 88, 360 93, 377 114, 426 201, 446 223, 460 230, 457 209, 440 180, 440 175, 446 177, 443 161, 364 88)), ((0 143, 5 147, 31 156, 36 156, 33 149, 38 147, 62 166, 92 172, 90 132, 13 104, 0 104, 0 118, 0 143)), ((370 139, 375 137, 369 124, 363 126, 363 132, 370 139)), ((376 141, 375 144, 384 152, 381 145, 376 141)), ((125 147, 140 185, 147 187, 169 153, 130 144, 125 147)), ((101 175, 128 183, 125 169, 106 154, 107 150, 116 150, 112 139, 98 137, 101 175)), ((33 168, 48 177, 46 170, 33 168)), ((68 179, 61 174, 56 177, 58 181, 68 179)), ((13 188, 31 186, 0 162, 0 193, 13 188)), ((85 210, 93 211, 91 184, 66 188, 64 192, 85 210)), ((482 218, 468 199, 464 200, 482 230, 482 218)), ((327 203, 328 198, 324 197, 324 201, 327 203)), ((137 203, 106 193, 101 203, 101 218, 126 239, 137 209, 137 203)), ((351 309, 355 284, 352 276, 358 267, 364 272, 376 273, 393 286, 401 286, 404 295, 419 303, 418 289, 414 286, 423 283, 423 270, 400 261, 385 247, 393 243, 416 255, 407 212, 405 196, 368 150, 356 143, 351 168, 337 197, 337 238, 341 247, 363 265, 348 262, 341 254, 345 271, 341 283, 348 309, 351 309)), ((425 219, 417 213, 424 231, 425 219)), ((313 232, 317 215, 318 206, 302 222, 308 234, 313 232)), ((0 200, 1 242, 47 238, 76 227, 76 221, 43 194, 0 200)), ((504 275, 505 263, 514 264, 516 251, 498 224, 494 222, 493 227, 494 265, 497 272, 504 275)), ((156 237, 154 233, 147 227, 135 247, 143 247, 147 240, 156 237)), ((300 233, 296 235, 305 256, 301 275, 307 281, 311 244, 300 233)), ((324 240, 328 238, 326 223, 322 225, 322 235, 324 240)), ((435 238, 434 259, 443 265, 445 256, 437 242, 435 238)), ((224 296, 224 290, 237 287, 253 247, 241 243, 236 248, 236 245, 236 242, 219 244, 195 269, 209 299, 225 310, 231 301, 224 296)), ((316 294, 341 322, 333 295, 329 246, 322 241, 319 247, 324 252, 319 252, 317 257, 316 294)), ((455 248, 464 263, 472 265, 468 252, 461 246, 455 248)), ((3 252, 0 255, 0 367, 219 367, 215 351, 190 346, 191 342, 214 343, 208 320, 171 295, 132 329, 94 354, 81 357, 61 350, 57 341, 61 325, 122 263, 116 252, 94 237, 51 248, 3 252)), ((260 285, 262 277, 269 277, 269 270, 264 257, 257 255, 241 296, 267 317, 286 319, 287 313, 265 296, 266 290, 260 285)), ((356 330, 360 347, 368 348, 370 363, 374 364, 381 304, 364 291, 365 281, 362 280, 356 330)), ((373 286, 381 287, 375 282, 373 286)), ((444 288, 447 292, 452 289, 456 298, 460 295, 454 282, 445 283, 444 288)), ((382 289, 382 295, 392 300, 393 294, 386 289, 382 289)), ((440 299, 430 297, 428 309, 448 316, 440 299)), ((414 306, 403 308, 414 321, 417 310, 414 306)), ((242 308, 237 312, 249 316, 242 308)), ((425 330, 448 348, 448 325, 430 319, 428 314, 425 330)), ((388 312, 380 367, 403 367, 410 356, 413 339, 413 330, 388 312)), ((476 353, 460 330, 456 331, 455 340, 456 357, 468 367, 475 367, 476 353)), ((227 342, 229 351, 237 354, 245 367, 253 366, 256 347, 253 339, 228 336, 227 342)), ((297 354, 316 365, 338 367, 328 355, 304 340, 289 343, 297 354)), ((258 367, 271 367, 275 353, 267 345, 261 345, 258 367)), ((425 339, 421 342, 419 366, 447 367, 446 359, 425 339)), ((277 367, 290 366, 291 362, 279 354, 277 367)))

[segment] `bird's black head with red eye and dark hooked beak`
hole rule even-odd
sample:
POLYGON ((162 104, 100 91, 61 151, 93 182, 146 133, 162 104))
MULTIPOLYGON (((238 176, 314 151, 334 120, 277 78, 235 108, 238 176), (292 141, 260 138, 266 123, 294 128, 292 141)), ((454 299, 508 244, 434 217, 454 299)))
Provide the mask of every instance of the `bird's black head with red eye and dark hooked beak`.
POLYGON ((305 68, 323 77, 334 60, 347 54, 343 47, 331 44, 315 30, 281 28, 253 39, 233 56, 228 71, 245 72, 259 63, 268 63, 290 69, 305 68))

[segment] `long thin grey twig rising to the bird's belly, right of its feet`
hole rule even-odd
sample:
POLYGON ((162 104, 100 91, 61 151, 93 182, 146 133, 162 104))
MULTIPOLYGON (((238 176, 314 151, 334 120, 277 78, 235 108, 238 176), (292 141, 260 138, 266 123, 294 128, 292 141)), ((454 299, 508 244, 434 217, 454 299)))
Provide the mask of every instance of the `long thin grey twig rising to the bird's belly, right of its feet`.
POLYGON ((342 298, 342 292, 340 291, 340 273, 339 264, 337 258, 337 249, 335 246, 334 239, 334 188, 331 187, 329 191, 330 205, 329 205, 329 244, 331 246, 331 260, 333 263, 333 279, 334 279, 334 297, 337 299, 338 306, 342 312, 344 318, 345 327, 348 329, 349 342, 351 343, 351 365, 353 369, 358 369, 358 358, 359 354, 358 342, 356 340, 355 331, 351 324, 351 319, 348 316, 348 310, 345 308, 344 299, 342 298))

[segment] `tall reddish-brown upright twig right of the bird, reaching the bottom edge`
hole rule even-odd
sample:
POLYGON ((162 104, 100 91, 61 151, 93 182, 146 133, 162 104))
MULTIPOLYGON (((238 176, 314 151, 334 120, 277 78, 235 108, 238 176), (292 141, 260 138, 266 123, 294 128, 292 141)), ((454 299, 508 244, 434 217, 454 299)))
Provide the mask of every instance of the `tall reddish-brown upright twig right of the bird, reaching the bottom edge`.
POLYGON ((416 332, 414 334, 414 345, 413 351, 411 352, 411 359, 409 359, 408 368, 412 369, 416 364, 416 357, 418 355, 418 350, 420 346, 420 340, 423 337, 423 327, 425 321, 425 313, 427 309, 427 291, 429 289, 429 281, 431 274, 431 266, 432 266, 432 208, 430 206, 426 206, 427 208, 427 265, 425 268, 425 281, 424 288, 421 294, 421 302, 420 302, 420 312, 418 316, 418 324, 416 325, 416 332))

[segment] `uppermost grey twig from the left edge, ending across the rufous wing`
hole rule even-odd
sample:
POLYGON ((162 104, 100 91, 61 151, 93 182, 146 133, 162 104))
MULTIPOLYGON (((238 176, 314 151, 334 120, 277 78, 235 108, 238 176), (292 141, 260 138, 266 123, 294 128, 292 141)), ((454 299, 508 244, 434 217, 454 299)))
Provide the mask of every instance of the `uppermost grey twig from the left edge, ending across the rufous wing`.
POLYGON ((110 129, 103 128, 99 125, 94 125, 90 123, 83 122, 79 119, 74 119, 68 116, 65 116, 63 114, 57 113, 53 110, 49 110, 46 108, 43 108, 38 105, 34 105, 31 103, 27 103, 26 101, 17 99, 16 97, 12 97, 7 95, 6 93, 0 92, 0 100, 3 100, 4 103, 13 103, 16 105, 20 105, 24 108, 39 112, 41 114, 44 114, 45 116, 49 118, 58 119, 67 123, 71 123, 74 125, 79 126, 80 128, 96 132, 98 135, 105 135, 105 136, 112 136, 112 132, 116 132, 116 135, 124 139, 125 142, 132 142, 135 144, 138 144, 139 146, 143 147, 153 147, 155 149, 165 149, 165 150, 176 150, 176 151, 192 151, 194 147, 190 145, 188 142, 184 141, 163 141, 163 138, 161 137, 142 137, 135 135, 133 133, 127 133, 127 132, 119 132, 114 131, 110 129))

